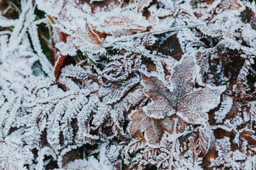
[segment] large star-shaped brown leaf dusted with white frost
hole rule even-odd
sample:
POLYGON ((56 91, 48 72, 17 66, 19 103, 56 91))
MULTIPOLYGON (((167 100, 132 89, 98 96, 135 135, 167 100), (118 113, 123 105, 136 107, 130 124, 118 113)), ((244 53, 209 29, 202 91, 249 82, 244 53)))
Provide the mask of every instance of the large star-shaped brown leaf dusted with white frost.
POLYGON ((170 91, 157 77, 142 73, 144 93, 151 98, 146 115, 151 118, 164 118, 176 113, 188 123, 201 124, 208 120, 206 112, 218 106, 223 87, 206 86, 195 89, 196 61, 185 56, 176 64, 171 74, 170 91))

